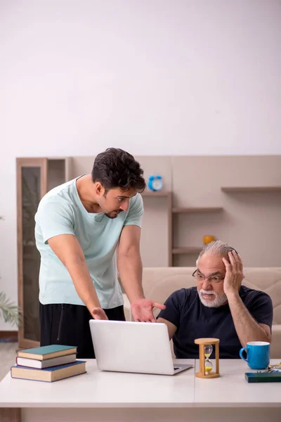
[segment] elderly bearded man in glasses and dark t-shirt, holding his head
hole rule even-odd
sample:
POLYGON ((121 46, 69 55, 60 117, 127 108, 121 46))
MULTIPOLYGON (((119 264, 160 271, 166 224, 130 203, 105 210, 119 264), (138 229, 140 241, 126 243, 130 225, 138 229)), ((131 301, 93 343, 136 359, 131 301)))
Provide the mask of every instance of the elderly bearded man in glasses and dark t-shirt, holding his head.
POLYGON ((204 246, 193 273, 197 287, 181 288, 166 300, 158 322, 168 326, 177 358, 197 358, 195 338, 219 338, 220 357, 235 359, 249 341, 271 340, 273 305, 261 291, 241 286, 240 255, 226 243, 204 246))

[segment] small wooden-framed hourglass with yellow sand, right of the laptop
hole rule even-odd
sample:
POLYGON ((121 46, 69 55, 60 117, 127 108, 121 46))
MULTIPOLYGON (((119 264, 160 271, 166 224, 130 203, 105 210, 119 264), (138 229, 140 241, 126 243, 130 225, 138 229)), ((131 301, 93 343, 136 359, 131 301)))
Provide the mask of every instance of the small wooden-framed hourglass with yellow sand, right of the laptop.
POLYGON ((197 338, 195 343, 199 345, 199 359, 200 359, 200 366, 199 372, 195 373, 195 376, 198 378, 216 378, 220 376, 218 370, 218 359, 219 359, 219 351, 218 351, 218 338, 197 338), (211 356, 211 352, 213 352, 213 346, 215 345, 215 355, 216 355, 216 372, 212 372, 213 364, 211 363, 209 357, 211 356))

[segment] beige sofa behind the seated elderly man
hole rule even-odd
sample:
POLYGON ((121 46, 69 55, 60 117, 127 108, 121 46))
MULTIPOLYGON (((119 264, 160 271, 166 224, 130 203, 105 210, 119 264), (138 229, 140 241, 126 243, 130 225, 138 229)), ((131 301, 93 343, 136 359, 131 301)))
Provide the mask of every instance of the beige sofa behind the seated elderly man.
MULTIPOLYGON (((192 277, 195 267, 152 267, 143 269, 145 297, 164 303, 179 288, 196 286, 192 277)), ((281 360, 281 267, 244 268, 244 286, 263 290, 273 300, 273 338, 270 357, 281 360)), ((130 304, 124 295, 126 320, 131 320, 130 304)), ((158 312, 155 311, 155 315, 158 312)))

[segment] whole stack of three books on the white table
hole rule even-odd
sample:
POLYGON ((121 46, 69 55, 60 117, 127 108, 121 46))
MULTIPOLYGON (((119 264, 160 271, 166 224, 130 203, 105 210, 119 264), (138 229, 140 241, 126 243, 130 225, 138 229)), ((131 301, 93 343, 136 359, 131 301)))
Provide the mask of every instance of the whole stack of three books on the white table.
POLYGON ((77 347, 50 345, 19 350, 11 377, 34 381, 53 381, 86 372, 86 362, 77 360, 77 347))

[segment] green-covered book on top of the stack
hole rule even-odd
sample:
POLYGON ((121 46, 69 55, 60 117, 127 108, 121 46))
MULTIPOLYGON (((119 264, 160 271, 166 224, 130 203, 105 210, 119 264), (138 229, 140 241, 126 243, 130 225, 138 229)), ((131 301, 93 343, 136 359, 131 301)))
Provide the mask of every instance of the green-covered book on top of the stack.
POLYGON ((67 354, 77 353, 76 346, 50 345, 42 347, 34 347, 33 349, 25 349, 18 351, 18 357, 26 357, 27 359, 45 360, 53 357, 65 356, 67 354))

